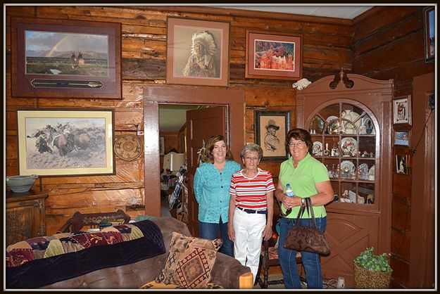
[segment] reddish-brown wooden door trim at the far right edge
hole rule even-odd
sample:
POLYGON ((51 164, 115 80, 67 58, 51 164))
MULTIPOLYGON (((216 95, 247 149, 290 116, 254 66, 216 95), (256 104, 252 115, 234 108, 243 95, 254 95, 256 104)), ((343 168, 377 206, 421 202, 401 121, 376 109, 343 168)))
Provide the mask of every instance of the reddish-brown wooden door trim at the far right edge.
POLYGON ((413 78, 413 153, 411 189, 411 237, 409 288, 434 288, 434 110, 429 110, 429 94, 434 93, 434 72, 413 78), (425 131, 425 122, 429 117, 425 131))

